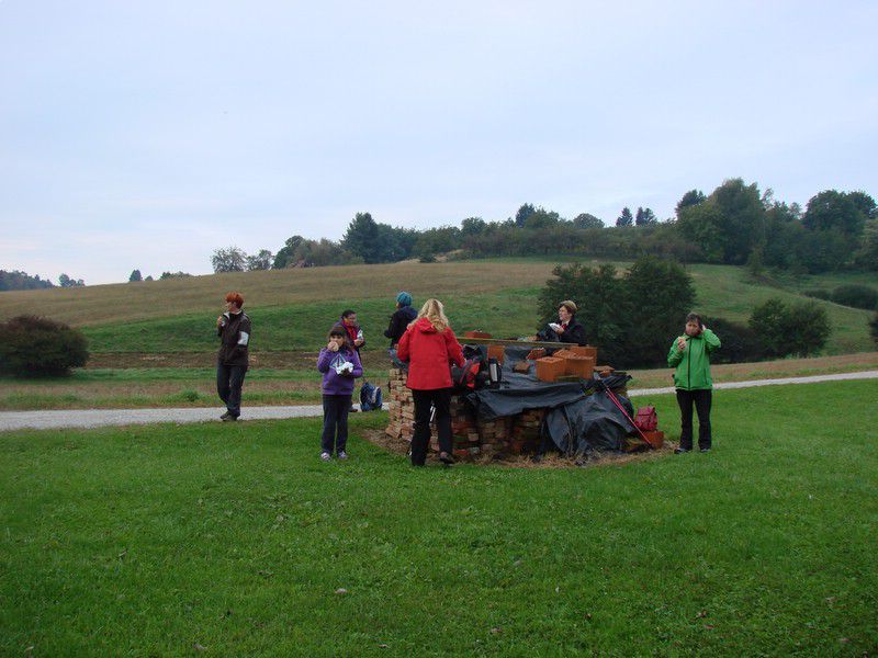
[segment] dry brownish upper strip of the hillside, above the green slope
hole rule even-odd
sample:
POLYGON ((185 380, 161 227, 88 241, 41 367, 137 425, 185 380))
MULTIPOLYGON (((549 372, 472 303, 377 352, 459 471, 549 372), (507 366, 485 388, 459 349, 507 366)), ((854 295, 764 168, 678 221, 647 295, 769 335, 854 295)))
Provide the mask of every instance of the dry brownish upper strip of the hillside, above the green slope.
MULTIPOLYGON (((335 316, 357 299, 384 299, 389 311, 401 290, 416 299, 462 296, 502 288, 540 286, 553 264, 547 261, 504 265, 492 261, 423 264, 346 265, 214 274, 83 288, 16 291, 0 294, 0 317, 45 315, 76 326, 93 326, 178 315, 215 318, 228 291, 240 291, 247 308, 303 303, 331 306, 335 316), (336 310, 336 308, 338 310, 336 310)), ((315 318, 316 319, 316 318, 315 318)), ((532 324, 532 322, 531 322, 532 324)))

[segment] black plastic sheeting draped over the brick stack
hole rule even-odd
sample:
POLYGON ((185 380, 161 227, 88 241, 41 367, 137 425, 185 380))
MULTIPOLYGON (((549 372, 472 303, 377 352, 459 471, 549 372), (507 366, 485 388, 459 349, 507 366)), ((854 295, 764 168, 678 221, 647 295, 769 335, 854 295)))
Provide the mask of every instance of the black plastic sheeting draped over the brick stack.
MULTIPOLYGON (((483 345, 472 349, 486 352, 483 345)), ((530 348, 507 347, 500 386, 474 390, 466 396, 479 418, 491 421, 529 409, 549 409, 542 432, 562 454, 572 456, 592 450, 622 450, 624 438, 634 429, 606 389, 623 387, 631 376, 540 382, 533 373, 533 365, 527 374, 513 371, 513 366, 524 360, 530 348), (592 395, 587 395, 589 393, 592 395)), ((618 394, 616 397, 633 417, 634 410, 628 398, 618 394)))

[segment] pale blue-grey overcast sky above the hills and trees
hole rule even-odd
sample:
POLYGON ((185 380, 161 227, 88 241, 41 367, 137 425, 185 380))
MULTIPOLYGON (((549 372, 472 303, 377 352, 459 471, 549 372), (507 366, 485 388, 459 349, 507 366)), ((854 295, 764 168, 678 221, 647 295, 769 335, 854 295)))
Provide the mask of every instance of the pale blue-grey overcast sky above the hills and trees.
POLYGON ((0 0, 0 269, 207 273, 358 211, 664 219, 732 177, 878 194, 878 2, 609 4, 0 0))

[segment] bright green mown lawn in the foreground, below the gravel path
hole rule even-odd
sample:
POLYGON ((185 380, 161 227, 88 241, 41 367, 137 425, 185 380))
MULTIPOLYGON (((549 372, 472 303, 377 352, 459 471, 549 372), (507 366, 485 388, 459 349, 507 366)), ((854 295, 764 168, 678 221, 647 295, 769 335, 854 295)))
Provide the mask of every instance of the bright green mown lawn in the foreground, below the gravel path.
POLYGON ((0 434, 0 654, 874 653, 876 397, 718 392, 713 453, 585 469, 413 470, 381 413, 329 464, 317 420, 0 434))

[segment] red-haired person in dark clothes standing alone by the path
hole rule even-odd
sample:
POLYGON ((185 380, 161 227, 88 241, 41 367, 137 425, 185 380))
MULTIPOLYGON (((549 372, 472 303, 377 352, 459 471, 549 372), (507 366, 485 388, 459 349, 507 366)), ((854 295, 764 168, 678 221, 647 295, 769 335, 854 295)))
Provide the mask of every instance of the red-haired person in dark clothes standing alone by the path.
POLYGON ((226 311, 216 318, 219 352, 216 355, 216 393, 226 406, 219 419, 237 420, 240 416, 240 392, 249 365, 250 318, 241 307, 240 293, 226 295, 226 311))

